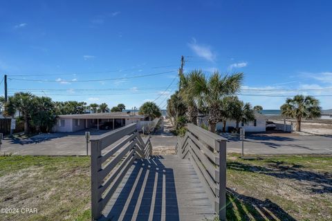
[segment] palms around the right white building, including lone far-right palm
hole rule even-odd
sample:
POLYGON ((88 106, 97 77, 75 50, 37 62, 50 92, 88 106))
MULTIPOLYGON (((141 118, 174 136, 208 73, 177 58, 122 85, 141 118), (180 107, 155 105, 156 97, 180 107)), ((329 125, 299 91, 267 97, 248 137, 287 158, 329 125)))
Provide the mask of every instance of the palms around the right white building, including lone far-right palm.
MULTIPOLYGON (((197 124, 199 115, 206 116, 208 130, 216 131, 216 124, 223 122, 225 132, 226 122, 244 124, 255 120, 255 111, 261 113, 262 106, 252 108, 249 102, 242 102, 237 93, 243 84, 243 73, 221 75, 215 71, 208 77, 202 70, 190 73, 180 73, 179 90, 167 100, 167 113, 177 131, 183 131, 187 122, 197 124)), ((300 130, 302 118, 320 117, 320 102, 311 96, 297 95, 286 99, 281 106, 282 115, 297 120, 297 131, 300 130)))

